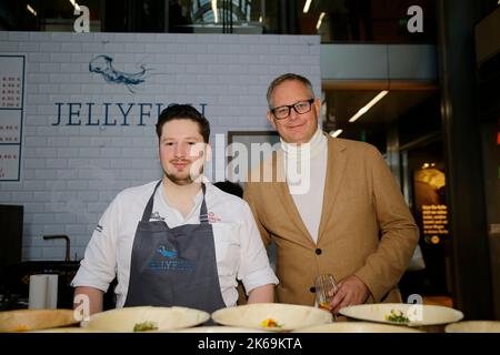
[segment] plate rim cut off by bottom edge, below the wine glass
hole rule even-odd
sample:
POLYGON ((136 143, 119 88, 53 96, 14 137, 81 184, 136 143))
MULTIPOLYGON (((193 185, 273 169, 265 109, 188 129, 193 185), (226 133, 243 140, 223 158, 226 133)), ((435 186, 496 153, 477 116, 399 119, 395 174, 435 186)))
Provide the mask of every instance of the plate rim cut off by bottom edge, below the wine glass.
POLYGON ((368 322, 338 322, 314 325, 294 331, 294 333, 422 333, 407 326, 377 324, 368 322))

